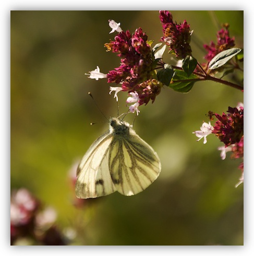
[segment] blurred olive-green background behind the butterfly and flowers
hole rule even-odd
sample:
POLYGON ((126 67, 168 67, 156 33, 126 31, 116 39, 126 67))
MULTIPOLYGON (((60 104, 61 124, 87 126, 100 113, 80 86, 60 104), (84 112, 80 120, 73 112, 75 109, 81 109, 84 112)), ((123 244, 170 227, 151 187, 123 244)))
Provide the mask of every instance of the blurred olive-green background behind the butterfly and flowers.
MULTIPOLYGON (((200 63, 202 45, 216 42, 224 22, 243 48, 243 11, 171 13, 178 24, 190 24, 200 63)), ((208 122, 209 110, 222 114, 243 102, 241 91, 225 85, 200 82, 188 94, 165 87, 153 104, 140 107, 134 128, 162 162, 148 189, 130 197, 75 197, 77 164, 108 129, 88 92, 106 117, 117 115, 108 94, 115 85, 84 75, 96 65, 105 74, 119 66, 116 54, 104 48, 114 39, 108 19, 130 32, 141 27, 155 44, 162 37, 159 11, 11 11, 10 18, 11 193, 26 189, 38 211, 53 209, 51 223, 68 245, 243 245, 244 186, 235 188, 240 160, 221 160, 222 143, 213 135, 204 145, 192 134, 208 122)), ((170 61, 164 53, 164 62, 170 61)), ((118 96, 119 112, 126 112, 127 94, 118 96)), ((26 231, 14 244, 38 243, 26 231)))

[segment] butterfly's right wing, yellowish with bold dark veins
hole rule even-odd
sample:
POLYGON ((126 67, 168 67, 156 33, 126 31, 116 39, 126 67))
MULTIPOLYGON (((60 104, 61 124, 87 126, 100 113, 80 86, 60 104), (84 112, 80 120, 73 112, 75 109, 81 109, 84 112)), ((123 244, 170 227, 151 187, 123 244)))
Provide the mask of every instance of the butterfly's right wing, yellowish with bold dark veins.
POLYGON ((112 181, 123 195, 143 191, 161 171, 158 155, 134 130, 128 136, 113 138, 109 162, 112 181))

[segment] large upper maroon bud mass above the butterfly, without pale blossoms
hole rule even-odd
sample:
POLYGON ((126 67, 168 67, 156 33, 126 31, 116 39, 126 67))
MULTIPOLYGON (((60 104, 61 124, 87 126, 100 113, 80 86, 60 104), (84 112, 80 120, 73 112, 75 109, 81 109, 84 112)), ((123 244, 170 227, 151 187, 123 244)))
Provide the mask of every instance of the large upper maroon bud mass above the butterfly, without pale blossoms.
POLYGON ((105 47, 121 58, 120 66, 108 72, 108 83, 121 84, 124 91, 135 91, 141 82, 151 78, 152 49, 141 28, 133 35, 128 30, 120 32, 115 41, 106 43, 105 47))

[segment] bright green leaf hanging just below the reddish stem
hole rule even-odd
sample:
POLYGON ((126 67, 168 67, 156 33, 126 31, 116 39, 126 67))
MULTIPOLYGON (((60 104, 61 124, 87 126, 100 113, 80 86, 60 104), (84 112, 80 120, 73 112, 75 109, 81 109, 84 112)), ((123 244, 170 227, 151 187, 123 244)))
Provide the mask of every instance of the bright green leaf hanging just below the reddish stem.
POLYGON ((196 75, 191 74, 188 76, 184 71, 176 70, 170 88, 178 92, 189 92, 195 83, 195 81, 190 81, 190 79, 197 78, 196 75))

